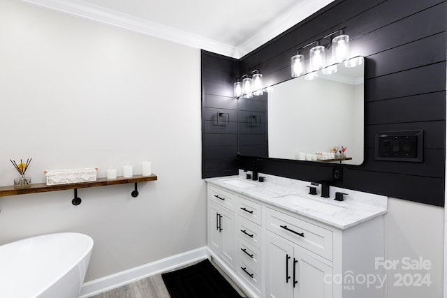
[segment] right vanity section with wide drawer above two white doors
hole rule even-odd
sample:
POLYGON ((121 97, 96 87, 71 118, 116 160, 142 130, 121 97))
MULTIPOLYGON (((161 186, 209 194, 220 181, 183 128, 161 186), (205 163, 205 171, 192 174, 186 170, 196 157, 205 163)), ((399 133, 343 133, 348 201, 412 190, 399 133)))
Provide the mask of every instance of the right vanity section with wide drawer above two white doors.
POLYGON ((270 208, 265 210, 265 296, 331 298, 332 283, 325 283, 325 276, 332 276, 332 266, 328 260, 316 258, 312 248, 332 259, 332 232, 270 208))

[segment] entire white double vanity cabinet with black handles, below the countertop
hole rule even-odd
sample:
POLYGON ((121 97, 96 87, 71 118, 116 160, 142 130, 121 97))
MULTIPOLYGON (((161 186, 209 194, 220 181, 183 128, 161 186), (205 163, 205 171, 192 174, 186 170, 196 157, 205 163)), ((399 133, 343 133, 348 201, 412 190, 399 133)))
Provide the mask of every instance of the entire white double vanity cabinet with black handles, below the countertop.
POLYGON ((263 188, 252 198, 247 188, 242 195, 207 187, 208 248, 249 297, 383 298, 376 260, 384 255, 386 209, 365 207, 347 215, 357 216, 352 224, 337 226, 279 200, 258 200, 263 188))

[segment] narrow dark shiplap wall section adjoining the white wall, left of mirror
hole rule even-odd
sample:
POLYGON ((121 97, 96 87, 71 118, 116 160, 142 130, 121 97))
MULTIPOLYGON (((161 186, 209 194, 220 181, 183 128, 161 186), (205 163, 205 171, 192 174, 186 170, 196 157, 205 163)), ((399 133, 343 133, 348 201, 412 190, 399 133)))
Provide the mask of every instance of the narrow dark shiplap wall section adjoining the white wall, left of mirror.
POLYGON ((233 97, 233 82, 238 76, 236 59, 202 51, 202 178, 237 174, 237 100, 233 97), (219 112, 222 115, 218 123, 219 112))

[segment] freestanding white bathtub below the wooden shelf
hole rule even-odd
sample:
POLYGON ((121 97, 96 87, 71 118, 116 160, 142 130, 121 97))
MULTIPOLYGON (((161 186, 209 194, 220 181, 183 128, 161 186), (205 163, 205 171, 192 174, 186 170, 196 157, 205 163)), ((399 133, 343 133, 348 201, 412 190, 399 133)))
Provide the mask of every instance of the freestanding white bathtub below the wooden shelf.
POLYGON ((55 233, 0 246, 0 297, 78 298, 93 239, 55 233))

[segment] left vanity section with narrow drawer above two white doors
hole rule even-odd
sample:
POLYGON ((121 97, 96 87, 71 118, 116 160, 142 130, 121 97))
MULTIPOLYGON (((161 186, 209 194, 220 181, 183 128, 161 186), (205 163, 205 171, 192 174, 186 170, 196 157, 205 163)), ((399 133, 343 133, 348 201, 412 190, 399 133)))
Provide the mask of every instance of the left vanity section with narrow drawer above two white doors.
POLYGON ((235 195, 221 188, 208 187, 208 247, 234 269, 235 267, 235 195))

